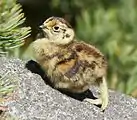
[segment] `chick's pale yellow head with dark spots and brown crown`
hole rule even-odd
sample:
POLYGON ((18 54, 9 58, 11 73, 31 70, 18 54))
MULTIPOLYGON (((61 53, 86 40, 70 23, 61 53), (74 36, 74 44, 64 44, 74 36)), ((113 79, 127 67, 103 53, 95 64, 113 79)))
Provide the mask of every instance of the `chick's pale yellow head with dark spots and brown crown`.
POLYGON ((71 25, 60 17, 50 17, 40 26, 50 42, 68 44, 74 40, 74 30, 71 25))

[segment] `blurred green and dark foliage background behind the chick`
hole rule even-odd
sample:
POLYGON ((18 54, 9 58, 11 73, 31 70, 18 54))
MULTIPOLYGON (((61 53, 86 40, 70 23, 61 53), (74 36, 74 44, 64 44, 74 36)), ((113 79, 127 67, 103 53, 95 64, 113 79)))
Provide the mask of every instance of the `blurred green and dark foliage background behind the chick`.
MULTIPOLYGON (((20 41, 24 41, 24 45, 21 44, 20 48, 10 50, 12 52, 8 52, 8 55, 29 59, 30 54, 25 51, 30 43, 36 39, 37 34, 40 33, 38 26, 50 16, 64 17, 75 29, 79 40, 95 45, 107 57, 109 88, 137 97, 136 0, 1 1, 7 1, 3 4, 7 8, 11 6, 14 8, 15 6, 15 4, 8 4, 9 1, 21 4, 22 13, 25 14, 26 20, 24 24, 19 25, 18 29, 25 26, 31 27, 29 38, 20 39, 20 41)), ((0 5, 2 5, 1 2, 0 5)), ((1 21, 2 19, 0 19, 1 21)), ((28 33, 24 33, 25 36, 28 33)), ((2 40, 0 38, 0 41, 2 40)), ((4 45, 1 50, 3 48, 4 45)))

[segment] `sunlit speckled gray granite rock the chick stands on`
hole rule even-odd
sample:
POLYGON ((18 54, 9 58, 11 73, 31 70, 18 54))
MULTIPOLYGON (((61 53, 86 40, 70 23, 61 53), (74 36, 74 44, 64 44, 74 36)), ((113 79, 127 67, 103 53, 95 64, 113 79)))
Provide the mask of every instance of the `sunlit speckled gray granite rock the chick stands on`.
MULTIPOLYGON (((42 78, 25 69, 19 59, 0 58, 0 75, 8 73, 18 80, 18 99, 8 104, 9 113, 21 120, 137 120, 137 100, 109 92, 105 112, 86 102, 68 97, 46 85, 42 78)), ((92 89, 97 92, 97 89, 92 89)))

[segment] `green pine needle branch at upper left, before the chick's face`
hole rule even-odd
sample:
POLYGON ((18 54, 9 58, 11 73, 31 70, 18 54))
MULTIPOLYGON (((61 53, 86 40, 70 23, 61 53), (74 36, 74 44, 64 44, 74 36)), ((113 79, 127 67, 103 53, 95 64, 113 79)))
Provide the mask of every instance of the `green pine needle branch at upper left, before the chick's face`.
POLYGON ((23 45, 30 35, 30 28, 21 27, 25 18, 15 0, 1 0, 0 7, 0 54, 3 54, 23 45))

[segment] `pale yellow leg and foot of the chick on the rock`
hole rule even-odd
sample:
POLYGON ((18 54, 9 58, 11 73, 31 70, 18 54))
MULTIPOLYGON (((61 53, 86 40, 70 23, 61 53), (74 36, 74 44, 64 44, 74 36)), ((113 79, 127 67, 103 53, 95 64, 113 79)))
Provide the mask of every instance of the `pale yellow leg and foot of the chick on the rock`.
POLYGON ((100 86, 100 98, 98 99, 86 98, 84 100, 95 105, 101 105, 101 109, 105 110, 105 108, 108 105, 108 88, 107 88, 106 79, 104 77, 102 77, 101 80, 99 81, 99 86, 100 86))

